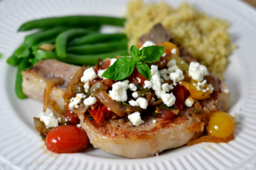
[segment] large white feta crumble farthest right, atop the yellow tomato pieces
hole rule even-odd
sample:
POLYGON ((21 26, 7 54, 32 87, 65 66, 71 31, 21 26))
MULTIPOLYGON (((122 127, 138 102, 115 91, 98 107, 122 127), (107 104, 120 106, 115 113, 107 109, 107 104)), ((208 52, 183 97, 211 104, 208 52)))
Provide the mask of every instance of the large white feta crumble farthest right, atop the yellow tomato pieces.
POLYGON ((189 65, 189 77, 193 80, 201 82, 204 76, 208 75, 207 67, 197 62, 191 62, 189 65))

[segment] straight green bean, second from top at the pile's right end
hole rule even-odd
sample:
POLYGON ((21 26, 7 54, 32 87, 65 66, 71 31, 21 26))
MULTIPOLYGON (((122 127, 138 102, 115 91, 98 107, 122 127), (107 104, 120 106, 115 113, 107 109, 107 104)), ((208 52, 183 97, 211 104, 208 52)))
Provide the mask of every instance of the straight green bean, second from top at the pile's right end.
POLYGON ((109 41, 119 41, 127 39, 125 34, 114 33, 114 34, 101 34, 101 33, 92 33, 84 37, 77 37, 73 41, 69 42, 68 45, 84 45, 84 44, 93 44, 97 42, 109 42, 109 41))

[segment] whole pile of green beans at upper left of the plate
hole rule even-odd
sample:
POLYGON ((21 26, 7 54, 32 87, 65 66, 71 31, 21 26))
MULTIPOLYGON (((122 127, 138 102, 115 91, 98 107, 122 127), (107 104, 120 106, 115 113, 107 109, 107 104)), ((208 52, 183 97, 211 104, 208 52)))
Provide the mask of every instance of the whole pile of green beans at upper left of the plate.
POLYGON ((127 37, 123 33, 102 34, 101 26, 124 26, 125 19, 107 16, 64 16, 31 20, 18 31, 39 31, 27 35, 7 63, 18 65, 15 93, 22 92, 21 71, 28 70, 42 59, 58 59, 74 65, 96 65, 96 59, 127 55, 127 37), (43 48, 44 47, 44 48, 43 48), (47 48, 45 48, 47 47, 47 48))

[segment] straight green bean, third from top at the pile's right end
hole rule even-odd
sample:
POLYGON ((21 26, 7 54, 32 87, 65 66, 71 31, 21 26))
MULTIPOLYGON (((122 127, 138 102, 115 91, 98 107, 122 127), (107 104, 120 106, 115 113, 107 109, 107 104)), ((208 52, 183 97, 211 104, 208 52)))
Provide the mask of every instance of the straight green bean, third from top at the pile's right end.
POLYGON ((104 42, 97 44, 88 44, 77 47, 67 48, 67 53, 70 54, 101 54, 115 51, 116 49, 127 49, 128 41, 122 42, 104 42))

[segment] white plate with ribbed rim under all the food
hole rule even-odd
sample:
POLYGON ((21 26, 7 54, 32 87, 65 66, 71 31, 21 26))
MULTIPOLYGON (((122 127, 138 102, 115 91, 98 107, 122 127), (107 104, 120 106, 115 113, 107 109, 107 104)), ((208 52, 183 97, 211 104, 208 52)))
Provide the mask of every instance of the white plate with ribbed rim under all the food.
MULTIPOLYGON (((177 7, 182 0, 170 0, 177 7)), ((6 59, 23 41, 18 27, 27 20, 68 14, 125 14, 127 1, 120 0, 8 0, 0 3, 0 170, 1 169, 256 169, 256 12, 244 3, 221 0, 190 0, 195 8, 230 22, 237 49, 230 55, 224 74, 232 108, 241 124, 236 139, 228 144, 203 143, 166 150, 160 156, 126 159, 90 147, 84 153, 57 155, 45 150, 33 127, 43 105, 15 96, 16 67, 6 59)))

